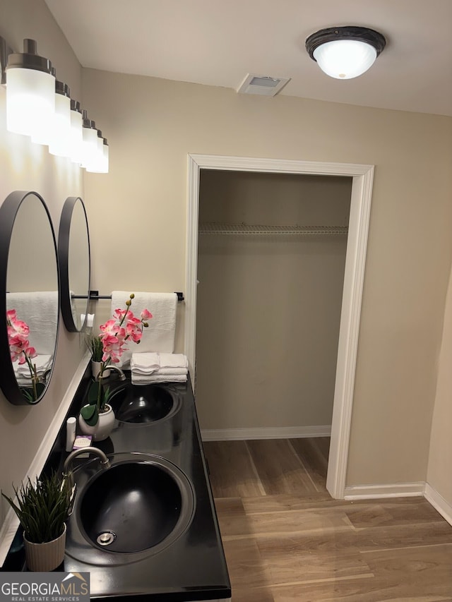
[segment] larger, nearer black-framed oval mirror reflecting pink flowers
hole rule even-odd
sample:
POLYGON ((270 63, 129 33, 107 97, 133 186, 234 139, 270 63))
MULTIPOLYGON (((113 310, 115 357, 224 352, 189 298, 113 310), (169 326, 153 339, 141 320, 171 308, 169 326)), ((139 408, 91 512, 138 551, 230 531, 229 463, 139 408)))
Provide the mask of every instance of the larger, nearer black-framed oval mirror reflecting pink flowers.
POLYGON ((0 387, 16 405, 40 402, 52 376, 59 268, 42 196, 14 191, 0 205, 0 387))

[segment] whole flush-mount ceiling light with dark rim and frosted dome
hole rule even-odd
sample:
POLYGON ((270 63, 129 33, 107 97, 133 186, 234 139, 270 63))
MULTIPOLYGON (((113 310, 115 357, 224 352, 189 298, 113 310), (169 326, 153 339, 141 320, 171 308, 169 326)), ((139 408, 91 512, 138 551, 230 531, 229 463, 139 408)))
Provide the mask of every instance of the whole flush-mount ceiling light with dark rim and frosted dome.
POLYGON ((306 49, 327 76, 348 80, 362 75, 386 45, 381 33, 368 28, 336 27, 319 30, 306 40, 306 49))

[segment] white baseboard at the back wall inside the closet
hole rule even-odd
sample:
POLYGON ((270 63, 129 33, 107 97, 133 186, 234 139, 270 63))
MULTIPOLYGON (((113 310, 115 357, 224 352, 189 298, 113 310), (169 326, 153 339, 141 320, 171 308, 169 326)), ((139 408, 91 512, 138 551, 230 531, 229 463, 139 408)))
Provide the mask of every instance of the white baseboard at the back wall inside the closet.
POLYGON ((218 428, 201 430, 203 441, 239 441, 244 439, 301 439, 330 437, 331 424, 320 426, 268 426, 262 428, 218 428))

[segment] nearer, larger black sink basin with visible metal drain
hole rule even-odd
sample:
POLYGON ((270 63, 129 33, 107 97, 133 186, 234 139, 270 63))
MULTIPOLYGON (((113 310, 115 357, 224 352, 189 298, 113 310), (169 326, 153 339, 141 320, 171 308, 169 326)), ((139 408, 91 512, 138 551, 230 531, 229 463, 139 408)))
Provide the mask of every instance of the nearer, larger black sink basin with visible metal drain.
POLYGON ((78 495, 83 535, 114 553, 166 547, 189 525, 194 509, 189 481, 157 457, 101 470, 78 495))

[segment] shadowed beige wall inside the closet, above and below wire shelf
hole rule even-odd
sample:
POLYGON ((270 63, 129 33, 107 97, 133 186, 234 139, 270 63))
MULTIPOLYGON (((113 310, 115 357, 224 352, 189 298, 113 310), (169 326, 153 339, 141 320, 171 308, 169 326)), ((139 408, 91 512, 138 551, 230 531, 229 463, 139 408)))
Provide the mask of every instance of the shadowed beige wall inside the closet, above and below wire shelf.
MULTIPOLYGON (((204 170, 199 222, 347 226, 351 188, 351 178, 204 170)), ((331 425, 346 247, 345 235, 201 234, 201 428, 331 425)))

